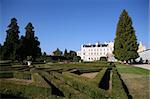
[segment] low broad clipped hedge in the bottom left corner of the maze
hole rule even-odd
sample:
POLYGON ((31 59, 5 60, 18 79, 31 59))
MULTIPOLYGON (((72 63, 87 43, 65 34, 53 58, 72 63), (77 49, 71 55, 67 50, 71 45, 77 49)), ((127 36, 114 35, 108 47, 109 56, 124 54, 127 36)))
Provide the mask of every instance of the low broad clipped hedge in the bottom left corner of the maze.
POLYGON ((33 84, 22 85, 21 83, 18 84, 17 81, 1 81, 0 94, 25 98, 45 98, 51 94, 51 89, 37 87, 33 84))

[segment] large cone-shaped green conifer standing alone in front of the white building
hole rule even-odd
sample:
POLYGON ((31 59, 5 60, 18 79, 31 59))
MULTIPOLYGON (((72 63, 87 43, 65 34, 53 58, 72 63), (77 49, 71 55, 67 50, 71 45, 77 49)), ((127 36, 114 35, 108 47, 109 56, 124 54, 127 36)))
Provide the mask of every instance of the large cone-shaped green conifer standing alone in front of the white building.
POLYGON ((114 42, 114 55, 120 61, 131 61, 138 58, 138 44, 132 19, 126 10, 120 15, 114 42))

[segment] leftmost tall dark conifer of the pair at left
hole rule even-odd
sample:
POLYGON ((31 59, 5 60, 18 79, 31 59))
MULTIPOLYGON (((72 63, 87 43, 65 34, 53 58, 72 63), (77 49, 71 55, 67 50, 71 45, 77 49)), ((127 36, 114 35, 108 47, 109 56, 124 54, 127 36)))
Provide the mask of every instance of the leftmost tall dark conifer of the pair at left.
POLYGON ((15 60, 17 57, 17 48, 19 44, 19 26, 17 25, 17 19, 12 18, 11 23, 8 25, 6 31, 6 40, 2 46, 1 58, 15 60))

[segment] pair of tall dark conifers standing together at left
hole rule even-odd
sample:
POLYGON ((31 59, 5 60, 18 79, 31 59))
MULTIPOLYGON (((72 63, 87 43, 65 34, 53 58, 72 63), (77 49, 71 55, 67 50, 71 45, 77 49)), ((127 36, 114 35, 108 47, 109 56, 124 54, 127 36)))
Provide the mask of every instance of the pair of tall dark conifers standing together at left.
POLYGON ((19 26, 17 19, 12 18, 11 23, 8 25, 6 40, 4 45, 0 47, 1 60, 19 60, 27 59, 31 56, 33 59, 41 55, 40 42, 34 36, 34 27, 31 22, 25 27, 25 36, 19 38, 19 26))

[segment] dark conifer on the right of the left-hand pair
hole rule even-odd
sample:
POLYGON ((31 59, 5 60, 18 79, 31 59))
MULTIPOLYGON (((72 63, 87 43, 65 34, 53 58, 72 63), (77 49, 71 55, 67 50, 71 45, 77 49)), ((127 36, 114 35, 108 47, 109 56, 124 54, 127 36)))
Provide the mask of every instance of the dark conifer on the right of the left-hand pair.
POLYGON ((37 57, 41 56, 41 49, 39 47, 40 42, 38 41, 38 38, 34 36, 34 27, 32 26, 32 23, 28 23, 25 29, 26 35, 25 37, 21 36, 18 49, 19 60, 23 61, 27 56, 31 56, 33 60, 35 60, 37 57))

